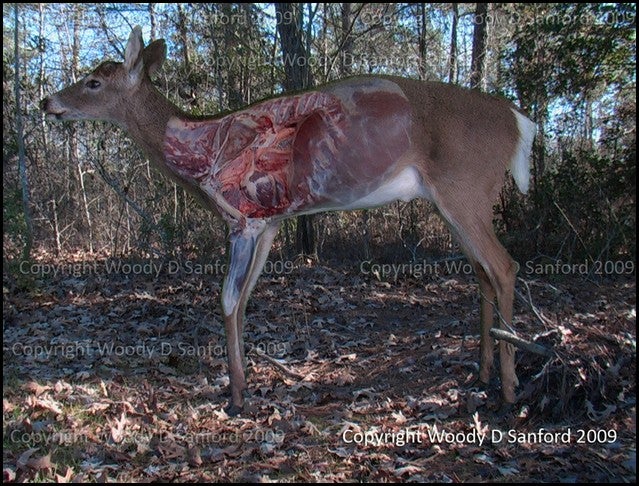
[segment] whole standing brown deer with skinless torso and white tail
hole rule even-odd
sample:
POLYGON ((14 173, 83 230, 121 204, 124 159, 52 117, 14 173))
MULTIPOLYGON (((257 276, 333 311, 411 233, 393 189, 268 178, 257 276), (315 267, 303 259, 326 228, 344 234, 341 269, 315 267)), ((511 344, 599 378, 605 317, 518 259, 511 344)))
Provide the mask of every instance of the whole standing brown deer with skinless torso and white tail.
MULTIPOLYGON (((498 326, 510 329, 519 265, 493 228, 493 201, 510 170, 530 181, 535 124, 514 104, 462 87, 354 76, 233 113, 195 117, 153 85, 166 43, 133 28, 123 62, 104 61, 41 101, 47 119, 121 127, 166 176, 221 216, 228 266, 221 291, 231 398, 247 393, 245 310, 287 218, 423 198, 471 263, 480 291, 477 381, 490 381, 498 326)), ((516 401, 515 348, 499 341, 503 404, 516 401)))

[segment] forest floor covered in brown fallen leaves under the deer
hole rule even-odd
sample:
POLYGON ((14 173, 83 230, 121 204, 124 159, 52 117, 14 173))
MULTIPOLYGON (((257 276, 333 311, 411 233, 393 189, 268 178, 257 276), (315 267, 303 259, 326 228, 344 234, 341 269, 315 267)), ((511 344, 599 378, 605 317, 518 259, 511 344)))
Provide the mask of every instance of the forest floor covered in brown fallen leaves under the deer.
POLYGON ((636 480, 634 275, 523 276, 514 327, 555 355, 518 351, 503 414, 473 276, 273 265, 229 417, 221 276, 36 262, 3 273, 5 482, 636 480))

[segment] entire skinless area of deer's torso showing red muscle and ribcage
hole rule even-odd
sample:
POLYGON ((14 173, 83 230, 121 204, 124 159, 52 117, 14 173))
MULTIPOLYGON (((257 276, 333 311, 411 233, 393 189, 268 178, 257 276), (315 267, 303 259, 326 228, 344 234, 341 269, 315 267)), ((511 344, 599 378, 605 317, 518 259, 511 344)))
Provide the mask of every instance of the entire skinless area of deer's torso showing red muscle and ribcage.
POLYGON ((401 89, 364 78, 221 118, 174 117, 164 152, 169 167, 216 201, 226 218, 287 217, 357 206, 394 175, 410 134, 401 89))

